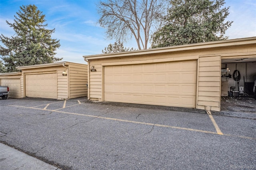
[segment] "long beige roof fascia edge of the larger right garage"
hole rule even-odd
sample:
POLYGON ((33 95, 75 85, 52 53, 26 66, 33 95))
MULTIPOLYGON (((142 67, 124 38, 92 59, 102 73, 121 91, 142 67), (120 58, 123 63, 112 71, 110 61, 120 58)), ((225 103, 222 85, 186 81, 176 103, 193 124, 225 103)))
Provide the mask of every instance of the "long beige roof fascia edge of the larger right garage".
POLYGON ((214 48, 214 47, 228 47, 228 46, 246 45, 246 44, 256 44, 256 37, 239 38, 239 39, 233 39, 233 40, 221 40, 221 41, 214 41, 214 42, 193 43, 193 44, 186 44, 186 45, 176 45, 171 47, 143 49, 143 50, 137 50, 137 51, 120 52, 120 53, 85 55, 83 57, 84 57, 84 60, 86 61, 89 59, 128 57, 128 56, 134 56, 134 55, 165 53, 165 52, 172 52, 172 51, 185 51, 185 50, 193 50, 193 49, 207 49, 207 48, 214 48))

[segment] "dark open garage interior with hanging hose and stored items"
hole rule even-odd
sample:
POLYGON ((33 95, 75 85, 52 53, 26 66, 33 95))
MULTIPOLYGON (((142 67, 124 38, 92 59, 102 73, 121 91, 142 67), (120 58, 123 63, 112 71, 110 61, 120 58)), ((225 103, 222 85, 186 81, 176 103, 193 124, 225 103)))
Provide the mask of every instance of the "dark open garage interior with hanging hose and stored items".
POLYGON ((221 111, 255 113, 256 58, 222 59, 221 75, 221 111))

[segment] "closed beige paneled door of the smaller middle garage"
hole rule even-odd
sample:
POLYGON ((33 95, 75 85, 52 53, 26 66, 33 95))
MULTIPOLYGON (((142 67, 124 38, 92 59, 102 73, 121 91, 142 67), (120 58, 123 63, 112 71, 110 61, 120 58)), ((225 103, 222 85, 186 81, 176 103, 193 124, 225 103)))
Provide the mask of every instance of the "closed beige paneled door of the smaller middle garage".
POLYGON ((57 99, 57 73, 27 74, 26 97, 57 99))

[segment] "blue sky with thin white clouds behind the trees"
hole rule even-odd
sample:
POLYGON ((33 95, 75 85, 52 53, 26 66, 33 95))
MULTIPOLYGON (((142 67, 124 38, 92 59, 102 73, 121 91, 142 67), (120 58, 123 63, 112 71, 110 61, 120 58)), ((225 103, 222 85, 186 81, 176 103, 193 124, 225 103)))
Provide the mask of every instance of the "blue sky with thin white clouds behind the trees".
MULTIPOLYGON (((62 61, 86 63, 83 55, 102 53, 102 49, 114 40, 105 38, 105 30, 96 24, 98 0, 0 0, 0 33, 13 36, 14 31, 6 24, 13 23, 20 6, 35 4, 46 15, 48 29, 55 28, 52 38, 60 40, 56 57, 62 61)), ((256 0, 226 0, 230 6, 227 18, 234 21, 226 31, 229 39, 256 36, 256 0)), ((2 44, 1 44, 2 45, 2 44)), ((126 47, 137 48, 134 40, 127 40, 126 47)))

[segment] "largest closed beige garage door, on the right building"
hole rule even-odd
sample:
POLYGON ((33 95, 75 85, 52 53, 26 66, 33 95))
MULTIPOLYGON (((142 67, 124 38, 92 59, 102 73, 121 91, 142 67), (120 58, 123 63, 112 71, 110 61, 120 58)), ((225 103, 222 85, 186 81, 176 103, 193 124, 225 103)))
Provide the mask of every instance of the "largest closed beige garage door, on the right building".
POLYGON ((104 100, 196 107, 196 61, 104 67, 104 100))

